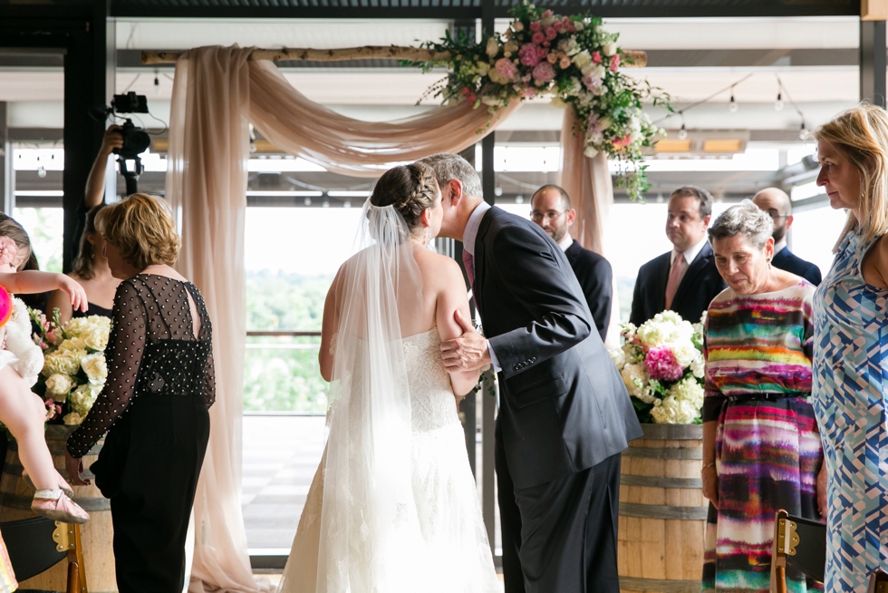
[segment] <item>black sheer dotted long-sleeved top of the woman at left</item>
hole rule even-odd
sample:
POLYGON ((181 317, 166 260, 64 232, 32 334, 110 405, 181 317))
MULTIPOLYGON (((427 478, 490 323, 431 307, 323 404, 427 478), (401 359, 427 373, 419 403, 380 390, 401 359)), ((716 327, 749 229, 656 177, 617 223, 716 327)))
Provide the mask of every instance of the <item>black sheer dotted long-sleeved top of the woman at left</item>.
POLYGON ((82 457, 139 396, 202 397, 216 401, 212 325, 198 288, 170 277, 140 274, 124 280, 114 297, 105 355, 108 379, 68 450, 82 457), (188 296, 200 316, 194 323, 188 296))

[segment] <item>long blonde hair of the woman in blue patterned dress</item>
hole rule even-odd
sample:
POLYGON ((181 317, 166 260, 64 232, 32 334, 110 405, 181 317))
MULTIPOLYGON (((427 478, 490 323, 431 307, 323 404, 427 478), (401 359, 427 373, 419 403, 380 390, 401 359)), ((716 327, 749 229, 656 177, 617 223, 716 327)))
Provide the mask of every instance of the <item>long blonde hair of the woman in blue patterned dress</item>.
POLYGON ((848 211, 833 251, 853 230, 860 229, 864 243, 888 232, 888 112, 861 104, 839 113, 811 135, 839 151, 860 176, 861 220, 848 211))

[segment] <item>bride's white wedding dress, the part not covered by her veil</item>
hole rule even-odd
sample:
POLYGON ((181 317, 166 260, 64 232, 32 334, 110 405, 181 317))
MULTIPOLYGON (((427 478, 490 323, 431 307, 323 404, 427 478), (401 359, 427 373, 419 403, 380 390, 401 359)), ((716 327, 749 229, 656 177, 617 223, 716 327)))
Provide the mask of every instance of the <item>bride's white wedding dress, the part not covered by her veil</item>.
MULTIPOLYGON (((499 591, 487 532, 481 518, 478 491, 468 464, 465 436, 459 422, 449 375, 441 363, 441 339, 437 328, 401 340, 410 394, 410 489, 412 500, 399 505, 394 529, 373 533, 372 522, 362 513, 360 489, 350 492, 347 509, 349 525, 324 521, 324 503, 343 494, 324 492, 324 467, 333 443, 327 444, 318 471, 305 501, 302 519, 278 589, 285 593, 494 593, 499 591), (371 522, 369 525, 368 522, 371 522), (331 552, 327 539, 343 539, 348 545, 331 552), (322 561, 319 574, 319 548, 331 556, 322 561), (342 558, 345 556, 345 558, 342 558), (325 567, 325 568, 324 568, 325 567), (337 573, 331 577, 325 572, 337 573)), ((359 351, 361 348, 359 348, 359 351)), ((399 353, 400 354, 400 353, 399 353)), ((369 358, 358 355, 349 377, 352 393, 356 385, 371 378, 361 369, 369 358)), ((353 403, 351 407, 362 405, 353 403)), ((361 412, 351 411, 350 433, 360 431, 361 412)), ((353 438, 348 447, 349 462, 361 464, 362 451, 353 438)), ((331 453, 332 454, 332 453, 331 453)), ((393 462, 394 463, 394 462, 393 462)), ((406 466, 405 466, 406 470, 406 466)), ((356 471, 352 467, 352 471, 356 471)), ((340 479, 338 484, 347 483, 340 479)), ((381 484, 387 486, 388 484, 381 484)), ((338 489, 350 488, 338 486, 338 489)), ((342 507, 340 507, 342 508, 342 507)))

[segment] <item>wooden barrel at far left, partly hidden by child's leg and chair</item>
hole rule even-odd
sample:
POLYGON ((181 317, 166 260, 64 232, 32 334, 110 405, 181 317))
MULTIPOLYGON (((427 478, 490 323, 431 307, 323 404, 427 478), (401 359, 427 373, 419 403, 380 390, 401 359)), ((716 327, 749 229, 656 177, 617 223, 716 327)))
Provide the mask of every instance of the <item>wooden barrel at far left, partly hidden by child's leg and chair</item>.
MULTIPOLYGON (((53 454, 56 469, 67 478, 64 468, 64 443, 73 432, 73 426, 51 424, 46 427, 46 443, 53 454)), ((83 457, 84 477, 92 479, 90 464, 101 451, 101 441, 83 457)), ((34 489, 22 479, 22 462, 18 457, 18 445, 9 442, 3 475, 0 476, 0 521, 34 517, 31 499, 34 489)), ((86 570, 86 584, 90 593, 117 591, 114 574, 114 550, 111 527, 111 501, 104 498, 93 480, 89 486, 74 487, 74 501, 90 513, 89 523, 81 525, 83 546, 83 569, 86 570)), ((52 569, 34 578, 19 582, 20 588, 48 589, 63 591, 67 583, 67 562, 62 561, 52 569)))

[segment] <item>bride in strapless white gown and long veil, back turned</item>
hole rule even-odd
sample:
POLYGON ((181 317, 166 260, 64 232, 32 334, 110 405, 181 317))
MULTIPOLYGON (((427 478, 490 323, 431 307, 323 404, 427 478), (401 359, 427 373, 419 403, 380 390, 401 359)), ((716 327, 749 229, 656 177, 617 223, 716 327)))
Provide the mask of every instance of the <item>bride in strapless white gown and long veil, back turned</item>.
POLYGON ((382 175, 364 205, 360 250, 323 307, 329 436, 279 591, 499 590, 442 340, 468 298, 455 261, 426 248, 443 209, 422 164, 382 175))

